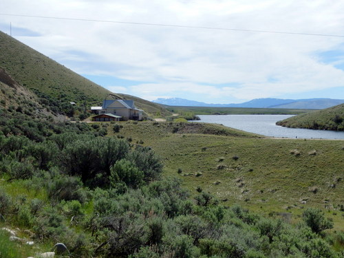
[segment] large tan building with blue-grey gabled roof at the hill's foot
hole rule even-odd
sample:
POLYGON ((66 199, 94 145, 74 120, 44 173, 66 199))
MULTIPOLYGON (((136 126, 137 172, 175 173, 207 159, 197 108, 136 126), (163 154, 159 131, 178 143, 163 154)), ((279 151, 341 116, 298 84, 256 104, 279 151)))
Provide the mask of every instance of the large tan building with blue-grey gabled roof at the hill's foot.
MULTIPOLYGON (((92 108, 91 108, 92 109, 92 108)), ((98 114, 113 114, 121 120, 142 120, 142 110, 137 109, 133 100, 104 100, 98 114)))

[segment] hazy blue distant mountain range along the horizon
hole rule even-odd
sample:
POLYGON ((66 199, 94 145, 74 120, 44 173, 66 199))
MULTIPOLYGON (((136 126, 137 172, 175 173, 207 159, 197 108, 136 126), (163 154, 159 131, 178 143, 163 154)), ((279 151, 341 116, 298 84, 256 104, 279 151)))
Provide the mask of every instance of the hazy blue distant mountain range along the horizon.
POLYGON ((277 109, 326 109, 344 103, 344 100, 332 98, 308 98, 308 99, 281 99, 281 98, 256 98, 238 104, 210 104, 184 98, 158 98, 153 103, 169 106, 186 107, 255 107, 277 109))

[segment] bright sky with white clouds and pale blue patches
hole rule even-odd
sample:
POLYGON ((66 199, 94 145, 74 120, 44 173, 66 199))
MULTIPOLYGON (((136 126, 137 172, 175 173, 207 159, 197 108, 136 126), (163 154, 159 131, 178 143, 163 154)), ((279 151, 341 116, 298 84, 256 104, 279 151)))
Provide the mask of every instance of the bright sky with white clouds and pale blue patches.
POLYGON ((344 99, 344 1, 0 1, 2 32, 111 92, 344 99))

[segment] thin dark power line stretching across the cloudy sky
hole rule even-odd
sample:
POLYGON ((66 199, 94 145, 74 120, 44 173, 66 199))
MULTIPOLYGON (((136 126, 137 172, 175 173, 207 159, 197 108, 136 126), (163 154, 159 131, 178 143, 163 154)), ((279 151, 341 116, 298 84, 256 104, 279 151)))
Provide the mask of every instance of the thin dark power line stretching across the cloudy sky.
POLYGON ((121 23, 121 24, 131 24, 131 25, 149 25, 149 26, 162 26, 162 27, 172 27, 172 28, 189 28, 189 29, 203 29, 203 30, 230 30, 230 31, 235 31, 235 32, 261 32, 261 33, 291 34, 291 35, 305 35, 305 36, 334 36, 334 37, 338 37, 338 38, 344 38, 344 35, 335 35, 335 34, 279 32, 279 31, 273 31, 273 30, 246 30, 246 29, 235 29, 235 28, 217 28, 217 27, 203 27, 203 26, 189 26, 189 25, 173 25, 173 24, 164 24, 164 23, 138 23, 138 22, 130 22, 130 21, 107 21, 107 20, 96 20, 96 19, 45 17, 45 16, 25 15, 25 14, 1 14, 0 13, 0 15, 12 16, 12 17, 58 19, 58 20, 67 20, 67 21, 92 21, 92 22, 98 22, 98 23, 121 23))

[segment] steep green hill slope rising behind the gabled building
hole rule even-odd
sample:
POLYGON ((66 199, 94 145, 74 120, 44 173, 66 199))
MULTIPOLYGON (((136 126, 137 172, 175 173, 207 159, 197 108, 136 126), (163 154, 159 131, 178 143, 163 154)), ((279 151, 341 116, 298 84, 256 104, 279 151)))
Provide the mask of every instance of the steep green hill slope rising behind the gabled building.
POLYGON ((3 32, 0 32, 0 68, 19 85, 44 98, 56 114, 68 114, 69 102, 75 102, 80 111, 85 111, 91 105, 100 105, 109 95, 135 100, 147 116, 171 114, 147 100, 114 94, 3 32))

